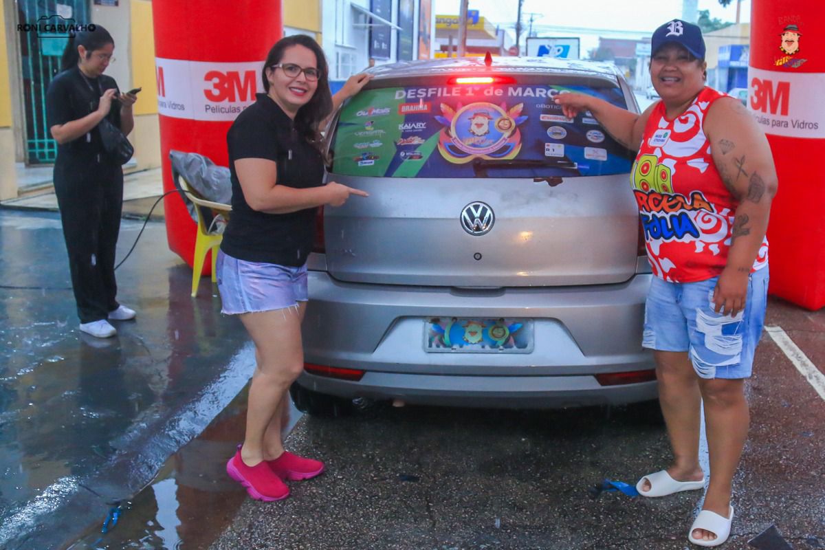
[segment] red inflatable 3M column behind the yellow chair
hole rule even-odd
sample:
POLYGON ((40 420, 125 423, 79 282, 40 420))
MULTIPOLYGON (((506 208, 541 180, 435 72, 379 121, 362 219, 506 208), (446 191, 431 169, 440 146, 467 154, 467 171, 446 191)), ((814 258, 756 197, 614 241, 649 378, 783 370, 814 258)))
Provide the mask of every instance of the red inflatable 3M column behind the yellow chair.
MULTIPOLYGON (((163 190, 174 189, 169 150, 227 166, 226 131, 263 91, 261 69, 283 34, 281 2, 152 2, 163 190)), ((197 225, 180 195, 163 203, 169 248, 190 266, 197 225)), ((204 263, 209 273, 210 261, 204 263)))

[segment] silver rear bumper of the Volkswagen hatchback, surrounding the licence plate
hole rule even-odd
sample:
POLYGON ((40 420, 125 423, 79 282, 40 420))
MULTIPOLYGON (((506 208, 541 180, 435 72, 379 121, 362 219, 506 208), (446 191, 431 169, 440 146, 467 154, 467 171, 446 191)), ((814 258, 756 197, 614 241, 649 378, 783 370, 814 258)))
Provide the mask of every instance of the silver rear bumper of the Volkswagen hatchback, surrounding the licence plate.
POLYGON ((333 280, 309 272, 304 360, 365 370, 358 382, 304 373, 340 397, 483 407, 577 407, 657 397, 656 383, 601 386, 595 374, 653 369, 641 347, 650 275, 591 287, 464 290, 333 280), (428 353, 427 317, 534 319, 527 354, 428 353))

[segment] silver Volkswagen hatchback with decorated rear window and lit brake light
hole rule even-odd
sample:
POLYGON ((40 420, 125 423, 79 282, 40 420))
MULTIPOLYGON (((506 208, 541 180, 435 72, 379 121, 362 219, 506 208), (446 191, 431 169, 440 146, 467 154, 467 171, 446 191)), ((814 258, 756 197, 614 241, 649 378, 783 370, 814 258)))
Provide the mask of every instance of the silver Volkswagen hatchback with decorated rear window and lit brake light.
POLYGON ((371 73, 328 132, 328 179, 370 197, 319 215, 296 406, 655 399, 633 155, 554 103, 577 91, 638 112, 620 73, 547 58, 371 73))

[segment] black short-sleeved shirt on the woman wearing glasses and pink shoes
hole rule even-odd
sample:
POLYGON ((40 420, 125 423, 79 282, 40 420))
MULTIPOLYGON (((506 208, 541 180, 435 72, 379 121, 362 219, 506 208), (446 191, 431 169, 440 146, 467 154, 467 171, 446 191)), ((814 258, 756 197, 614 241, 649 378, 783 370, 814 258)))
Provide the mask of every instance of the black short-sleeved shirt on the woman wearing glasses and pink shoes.
POLYGON ((248 106, 226 134, 232 176, 232 214, 221 250, 245 261, 299 267, 307 261, 315 237, 317 208, 289 214, 253 210, 243 196, 235 161, 265 158, 277 163, 276 184, 298 189, 323 184, 323 159, 311 143, 299 137, 293 121, 266 94, 248 106))

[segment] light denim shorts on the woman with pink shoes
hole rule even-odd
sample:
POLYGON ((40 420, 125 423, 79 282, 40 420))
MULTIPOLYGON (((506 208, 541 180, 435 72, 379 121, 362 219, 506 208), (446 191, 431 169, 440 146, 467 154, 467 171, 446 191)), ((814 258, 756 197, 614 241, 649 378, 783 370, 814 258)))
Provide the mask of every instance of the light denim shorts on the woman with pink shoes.
POLYGON ((295 308, 309 299, 306 264, 290 267, 244 261, 218 251, 215 275, 223 303, 221 313, 295 308))

